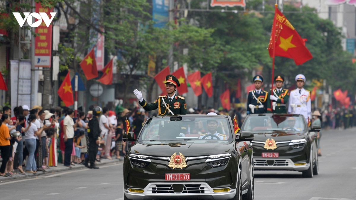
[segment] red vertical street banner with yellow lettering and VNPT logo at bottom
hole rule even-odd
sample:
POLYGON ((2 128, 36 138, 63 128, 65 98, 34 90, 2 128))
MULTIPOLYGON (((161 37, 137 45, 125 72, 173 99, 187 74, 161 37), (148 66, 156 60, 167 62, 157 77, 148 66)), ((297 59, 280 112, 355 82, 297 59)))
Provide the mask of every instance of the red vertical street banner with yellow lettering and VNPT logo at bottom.
MULTIPOLYGON (((36 3, 36 12, 46 12, 49 19, 52 11, 53 9, 43 8, 40 3, 36 3)), ((51 67, 52 23, 47 27, 42 20, 41 25, 35 28, 35 33, 40 35, 35 37, 35 67, 51 67)))

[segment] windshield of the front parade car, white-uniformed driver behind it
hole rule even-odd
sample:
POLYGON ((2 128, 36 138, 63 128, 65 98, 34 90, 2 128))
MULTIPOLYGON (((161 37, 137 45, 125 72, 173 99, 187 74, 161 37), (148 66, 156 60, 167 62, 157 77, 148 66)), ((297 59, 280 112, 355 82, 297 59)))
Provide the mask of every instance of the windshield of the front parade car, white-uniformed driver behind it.
POLYGON ((138 136, 138 141, 229 140, 232 131, 227 117, 153 117, 138 136))

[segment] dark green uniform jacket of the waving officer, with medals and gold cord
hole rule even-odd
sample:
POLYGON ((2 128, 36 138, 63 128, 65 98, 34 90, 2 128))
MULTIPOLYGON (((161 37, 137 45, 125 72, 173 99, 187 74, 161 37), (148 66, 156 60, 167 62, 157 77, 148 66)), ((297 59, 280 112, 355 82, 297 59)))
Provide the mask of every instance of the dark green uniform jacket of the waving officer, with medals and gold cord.
POLYGON ((170 109, 174 115, 185 115, 187 114, 187 104, 185 103, 184 97, 174 95, 171 102, 169 102, 169 96, 159 96, 152 104, 147 104, 145 99, 140 102, 143 109, 147 111, 156 110, 158 108, 158 115, 172 115, 168 109, 170 109), (166 103, 166 105, 164 104, 166 103))

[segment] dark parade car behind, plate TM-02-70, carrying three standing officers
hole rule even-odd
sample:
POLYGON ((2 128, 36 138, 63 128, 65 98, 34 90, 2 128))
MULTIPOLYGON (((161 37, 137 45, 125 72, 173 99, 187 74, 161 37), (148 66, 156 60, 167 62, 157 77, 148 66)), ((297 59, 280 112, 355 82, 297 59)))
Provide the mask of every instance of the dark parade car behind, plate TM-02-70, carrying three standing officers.
POLYGON ((319 173, 316 136, 320 127, 308 128, 303 115, 248 115, 241 131, 255 135, 255 170, 294 170, 310 178, 319 173))

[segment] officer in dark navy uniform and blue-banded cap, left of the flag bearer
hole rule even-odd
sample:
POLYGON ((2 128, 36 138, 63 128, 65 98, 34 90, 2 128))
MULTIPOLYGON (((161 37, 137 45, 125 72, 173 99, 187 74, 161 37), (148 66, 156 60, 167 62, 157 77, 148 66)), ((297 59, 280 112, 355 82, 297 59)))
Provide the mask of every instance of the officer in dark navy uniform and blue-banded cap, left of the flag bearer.
POLYGON ((253 77, 255 83, 255 90, 251 90, 247 97, 247 114, 260 114, 266 113, 268 93, 263 91, 263 77, 256 75, 253 77))

